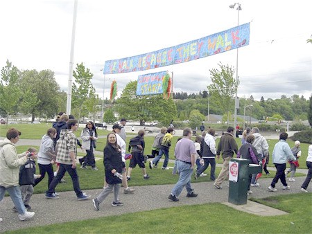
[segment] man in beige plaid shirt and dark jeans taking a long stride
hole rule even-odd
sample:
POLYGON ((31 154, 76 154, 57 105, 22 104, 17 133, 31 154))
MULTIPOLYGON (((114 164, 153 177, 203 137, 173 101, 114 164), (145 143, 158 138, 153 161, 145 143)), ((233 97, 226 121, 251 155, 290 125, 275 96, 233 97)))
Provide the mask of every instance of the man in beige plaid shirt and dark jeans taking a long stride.
POLYGON ((77 138, 73 132, 78 129, 78 121, 71 119, 67 123, 67 130, 62 130, 60 139, 56 144, 56 162, 60 163, 60 169, 56 177, 50 183, 49 190, 46 191, 46 198, 58 199, 55 194, 55 187, 58 182, 64 177, 65 172, 68 172, 73 181, 73 190, 75 190, 78 200, 86 200, 90 195, 85 195, 80 190, 78 174, 76 171, 76 157, 77 157, 77 138))

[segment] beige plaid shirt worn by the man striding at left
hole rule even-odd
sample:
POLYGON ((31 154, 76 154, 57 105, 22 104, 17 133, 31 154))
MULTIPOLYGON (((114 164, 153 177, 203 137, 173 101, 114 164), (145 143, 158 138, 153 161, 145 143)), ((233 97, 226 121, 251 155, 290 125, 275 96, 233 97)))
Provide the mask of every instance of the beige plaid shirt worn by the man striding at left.
POLYGON ((56 162, 71 165, 71 157, 69 152, 74 152, 75 158, 77 156, 77 138, 71 130, 62 130, 60 138, 56 144, 56 162))

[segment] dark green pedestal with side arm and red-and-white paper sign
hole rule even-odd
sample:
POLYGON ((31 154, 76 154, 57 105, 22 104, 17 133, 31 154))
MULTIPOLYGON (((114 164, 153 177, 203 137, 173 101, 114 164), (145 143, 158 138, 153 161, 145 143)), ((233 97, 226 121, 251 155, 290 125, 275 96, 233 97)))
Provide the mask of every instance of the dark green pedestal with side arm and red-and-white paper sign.
POLYGON ((248 159, 231 159, 229 162, 229 203, 247 204, 249 175, 262 172, 261 165, 249 163, 248 159))

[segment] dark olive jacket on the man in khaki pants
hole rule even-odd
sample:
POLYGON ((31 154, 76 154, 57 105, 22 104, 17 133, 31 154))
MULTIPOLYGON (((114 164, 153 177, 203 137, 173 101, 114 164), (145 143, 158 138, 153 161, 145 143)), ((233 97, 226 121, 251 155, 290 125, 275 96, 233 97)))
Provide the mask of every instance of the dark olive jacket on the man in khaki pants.
POLYGON ((218 150, 216 152, 217 155, 220 155, 222 152, 222 158, 225 159, 227 157, 233 157, 234 153, 237 154, 237 144, 234 140, 234 137, 229 132, 225 132, 223 136, 220 138, 220 142, 218 143, 218 150))

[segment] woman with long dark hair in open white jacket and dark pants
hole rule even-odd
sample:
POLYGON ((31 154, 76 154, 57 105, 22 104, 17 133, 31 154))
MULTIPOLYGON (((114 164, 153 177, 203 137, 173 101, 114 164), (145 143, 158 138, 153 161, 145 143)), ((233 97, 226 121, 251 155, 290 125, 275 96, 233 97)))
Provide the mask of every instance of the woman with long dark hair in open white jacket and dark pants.
POLYGON ((96 162, 94 159, 94 149, 96 148, 96 141, 98 140, 98 133, 96 127, 92 121, 89 121, 85 128, 81 132, 81 139, 83 140, 83 149, 87 152, 85 159, 81 165, 81 169, 86 169, 87 165, 91 165, 92 170, 98 170, 96 168, 96 162))

